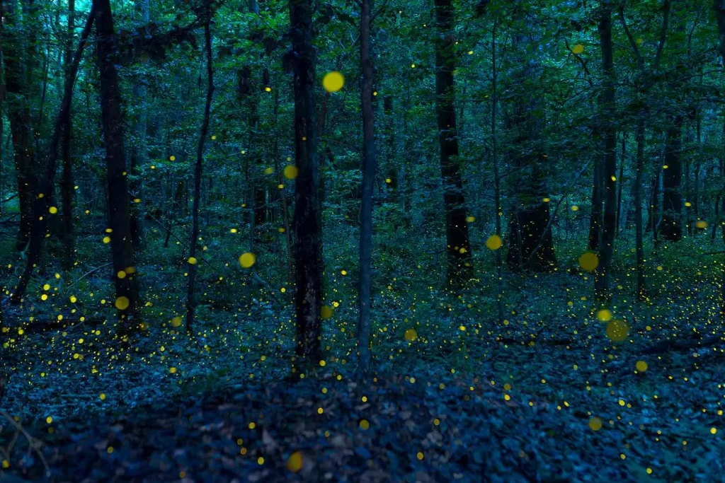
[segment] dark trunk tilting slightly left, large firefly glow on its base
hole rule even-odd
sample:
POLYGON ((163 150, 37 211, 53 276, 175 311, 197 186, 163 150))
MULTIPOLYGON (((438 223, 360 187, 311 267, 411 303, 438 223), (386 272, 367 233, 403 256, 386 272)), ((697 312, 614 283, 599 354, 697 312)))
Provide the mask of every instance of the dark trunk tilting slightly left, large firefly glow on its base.
POLYGON ((96 11, 96 56, 101 84, 101 122, 106 149, 108 184, 108 224, 112 230, 111 253, 116 287, 116 306, 125 319, 121 331, 133 328, 131 319, 138 314, 136 259, 131 243, 128 217, 128 177, 123 152, 123 118, 118 86, 118 38, 113 28, 110 0, 94 0, 96 11), (123 272, 123 277, 119 274, 123 272))

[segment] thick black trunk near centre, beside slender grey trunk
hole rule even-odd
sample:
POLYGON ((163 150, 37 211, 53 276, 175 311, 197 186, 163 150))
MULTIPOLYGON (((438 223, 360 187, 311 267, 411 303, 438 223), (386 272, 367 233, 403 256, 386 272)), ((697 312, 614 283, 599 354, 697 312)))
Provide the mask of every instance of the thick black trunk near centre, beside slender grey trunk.
POLYGON ((289 0, 291 56, 294 59, 294 260, 297 291, 295 353, 320 357, 322 304, 322 233, 315 125, 315 49, 312 46, 312 0, 289 0))

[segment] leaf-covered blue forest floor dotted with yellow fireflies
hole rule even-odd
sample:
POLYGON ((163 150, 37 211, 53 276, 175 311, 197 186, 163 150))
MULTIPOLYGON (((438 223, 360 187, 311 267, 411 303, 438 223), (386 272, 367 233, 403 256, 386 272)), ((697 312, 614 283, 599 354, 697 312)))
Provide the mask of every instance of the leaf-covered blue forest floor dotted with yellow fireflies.
POLYGON ((501 326, 492 277, 452 300, 428 286, 426 266, 417 279, 415 266, 386 273, 364 386, 353 382, 355 273, 329 277, 339 293, 325 361, 295 367, 289 291, 247 277, 258 294, 241 303, 236 287, 228 298, 210 288, 187 337, 171 320, 183 263, 164 270, 174 264, 159 257, 139 266, 156 271, 146 329, 122 343, 105 276, 49 271, 29 297, 56 302, 34 301, 34 322, 88 316, 36 333, 27 305, 4 307, 14 372, 0 481, 722 481, 722 266, 706 243, 681 243, 687 257, 662 245, 648 259, 646 302, 631 296, 629 253, 618 255, 610 309, 629 334, 617 343, 597 320, 591 275, 572 268, 580 248, 558 248, 558 272, 508 276, 501 326), (82 299, 75 314, 60 302, 70 295, 82 299))

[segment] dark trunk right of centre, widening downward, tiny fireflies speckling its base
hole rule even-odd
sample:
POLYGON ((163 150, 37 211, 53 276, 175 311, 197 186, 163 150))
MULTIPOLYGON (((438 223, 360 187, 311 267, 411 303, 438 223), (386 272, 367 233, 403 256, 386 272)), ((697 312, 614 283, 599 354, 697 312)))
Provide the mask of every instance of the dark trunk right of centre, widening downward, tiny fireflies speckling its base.
POLYGON ((440 146, 443 205, 446 214, 448 282, 458 290, 473 277, 471 242, 468 239, 463 180, 460 176, 458 133, 455 119, 455 54, 453 51, 453 4, 436 0, 436 116, 440 146))

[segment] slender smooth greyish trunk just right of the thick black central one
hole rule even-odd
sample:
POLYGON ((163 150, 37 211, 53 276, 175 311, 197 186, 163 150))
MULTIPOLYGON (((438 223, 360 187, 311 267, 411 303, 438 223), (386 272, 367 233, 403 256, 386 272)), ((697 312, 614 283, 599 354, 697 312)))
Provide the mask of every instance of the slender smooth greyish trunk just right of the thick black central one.
POLYGON ((373 185, 375 183, 375 120, 373 119, 373 61, 370 58, 370 3, 361 0, 360 69, 363 72, 363 200, 360 207, 360 318, 357 320, 358 375, 370 371, 370 291, 373 253, 373 185))

